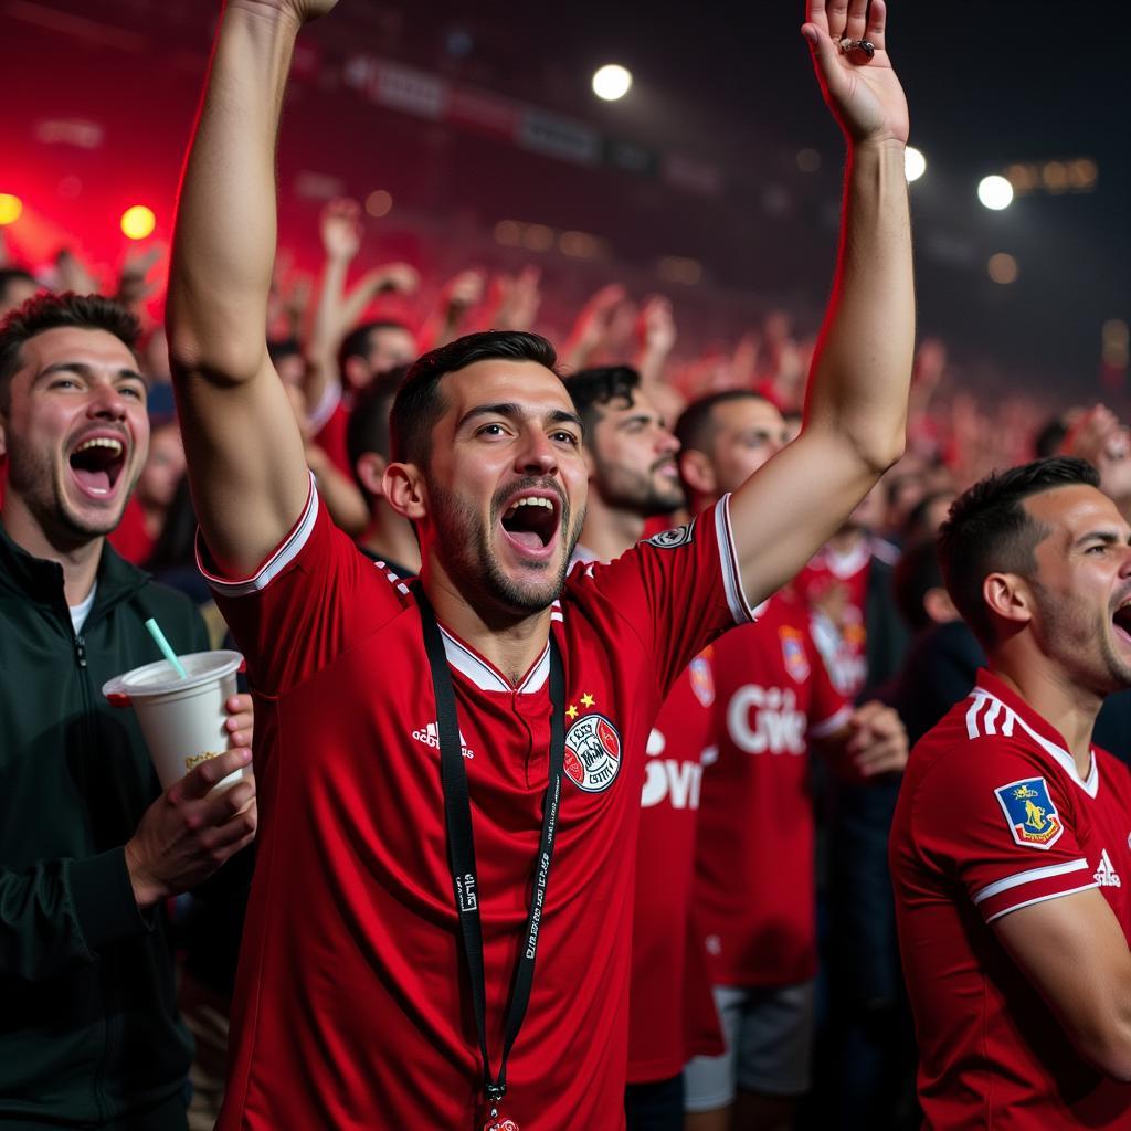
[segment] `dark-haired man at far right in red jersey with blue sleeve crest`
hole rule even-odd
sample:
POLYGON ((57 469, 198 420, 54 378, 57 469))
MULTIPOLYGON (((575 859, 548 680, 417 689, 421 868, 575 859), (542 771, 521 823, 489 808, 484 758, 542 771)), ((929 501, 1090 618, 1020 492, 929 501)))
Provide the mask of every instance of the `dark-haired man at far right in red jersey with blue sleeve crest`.
POLYGON ((939 538, 988 668, 912 752, 891 829, 929 1129, 1131 1126, 1131 527, 1090 464, 990 476, 939 538))

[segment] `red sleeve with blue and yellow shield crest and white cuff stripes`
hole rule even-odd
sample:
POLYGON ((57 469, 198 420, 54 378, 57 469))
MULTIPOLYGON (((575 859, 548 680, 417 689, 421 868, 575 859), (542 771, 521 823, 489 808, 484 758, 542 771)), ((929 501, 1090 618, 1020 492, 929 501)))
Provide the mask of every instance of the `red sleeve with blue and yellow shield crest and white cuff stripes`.
POLYGON ((917 783, 910 813, 917 851, 961 884, 986 923, 1094 888, 1070 788, 1009 739, 956 745, 917 783))

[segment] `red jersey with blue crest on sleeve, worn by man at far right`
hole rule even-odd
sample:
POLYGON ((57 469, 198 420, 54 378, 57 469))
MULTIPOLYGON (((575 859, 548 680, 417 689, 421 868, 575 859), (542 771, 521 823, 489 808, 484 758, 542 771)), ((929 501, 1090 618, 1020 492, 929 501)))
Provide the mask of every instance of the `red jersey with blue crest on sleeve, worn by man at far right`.
POLYGON ((988 926, 1098 886, 1126 934, 1129 834, 1126 767, 1093 749, 1081 779, 987 672, 915 746, 890 857, 926 1128, 1131 1128, 1131 1086, 1083 1061, 988 926))

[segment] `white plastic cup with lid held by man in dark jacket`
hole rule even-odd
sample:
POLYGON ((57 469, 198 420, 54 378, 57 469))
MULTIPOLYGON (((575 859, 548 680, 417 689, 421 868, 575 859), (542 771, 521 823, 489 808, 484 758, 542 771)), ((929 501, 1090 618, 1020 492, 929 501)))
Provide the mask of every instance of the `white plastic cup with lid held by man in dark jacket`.
MULTIPOLYGON (((162 789, 227 750, 224 703, 235 694, 235 673, 243 665, 238 651, 197 651, 179 658, 188 679, 181 679, 167 659, 158 659, 102 688, 113 706, 132 706, 137 711, 162 789)), ((213 791, 231 788, 242 780, 245 768, 222 778, 213 791)))

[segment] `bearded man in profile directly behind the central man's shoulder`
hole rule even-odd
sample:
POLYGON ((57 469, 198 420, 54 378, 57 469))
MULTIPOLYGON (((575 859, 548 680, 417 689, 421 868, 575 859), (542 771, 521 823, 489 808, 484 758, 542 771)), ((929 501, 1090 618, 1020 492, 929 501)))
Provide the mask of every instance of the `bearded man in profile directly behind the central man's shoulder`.
MULTIPOLYGON (((585 426, 589 464, 573 558, 612 561, 642 537, 647 519, 683 507, 679 441, 633 369, 582 370, 566 387, 585 426)), ((683 671, 648 735, 632 917, 628 1131, 682 1131, 683 1065, 696 1053, 722 1051, 706 964, 689 925, 702 763, 714 741, 710 653, 683 671)))

